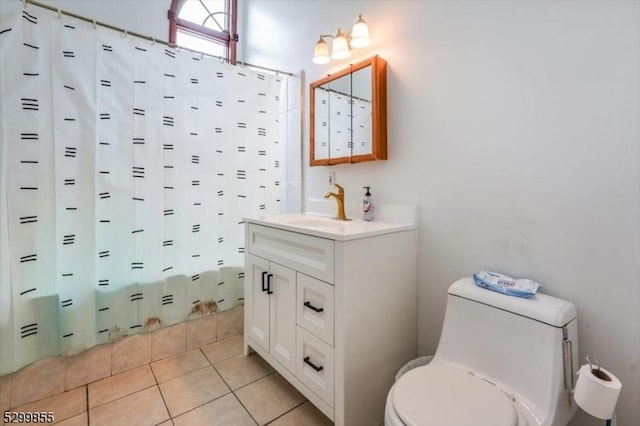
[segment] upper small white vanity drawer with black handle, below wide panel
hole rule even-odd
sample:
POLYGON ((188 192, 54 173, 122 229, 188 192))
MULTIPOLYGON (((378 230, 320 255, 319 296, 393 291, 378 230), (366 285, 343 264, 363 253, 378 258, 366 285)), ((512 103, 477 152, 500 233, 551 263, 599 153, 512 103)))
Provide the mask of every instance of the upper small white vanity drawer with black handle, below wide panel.
POLYGON ((297 274, 296 323, 333 346, 333 286, 297 274))

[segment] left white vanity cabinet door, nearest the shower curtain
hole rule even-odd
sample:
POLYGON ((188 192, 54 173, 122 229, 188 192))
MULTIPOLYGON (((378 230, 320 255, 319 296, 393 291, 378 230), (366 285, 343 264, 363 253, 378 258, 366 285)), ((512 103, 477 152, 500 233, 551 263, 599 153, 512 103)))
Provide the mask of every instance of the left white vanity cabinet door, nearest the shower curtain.
POLYGON ((245 332, 263 349, 269 350, 269 294, 266 291, 269 262, 246 255, 245 269, 245 332), (264 289, 264 290, 263 290, 264 289))

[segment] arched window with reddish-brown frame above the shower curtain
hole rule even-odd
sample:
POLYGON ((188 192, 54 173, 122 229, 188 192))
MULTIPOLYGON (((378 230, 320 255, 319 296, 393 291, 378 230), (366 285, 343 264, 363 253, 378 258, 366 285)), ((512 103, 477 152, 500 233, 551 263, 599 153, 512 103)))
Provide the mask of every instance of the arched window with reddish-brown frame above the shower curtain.
POLYGON ((236 62, 238 0, 171 0, 169 43, 236 62))

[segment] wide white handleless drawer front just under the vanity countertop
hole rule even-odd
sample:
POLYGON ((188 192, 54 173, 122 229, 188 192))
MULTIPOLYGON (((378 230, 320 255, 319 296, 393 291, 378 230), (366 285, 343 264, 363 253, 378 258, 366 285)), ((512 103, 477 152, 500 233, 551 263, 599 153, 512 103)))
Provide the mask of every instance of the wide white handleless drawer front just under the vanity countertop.
POLYGON ((333 240, 250 223, 247 250, 333 284, 333 240))

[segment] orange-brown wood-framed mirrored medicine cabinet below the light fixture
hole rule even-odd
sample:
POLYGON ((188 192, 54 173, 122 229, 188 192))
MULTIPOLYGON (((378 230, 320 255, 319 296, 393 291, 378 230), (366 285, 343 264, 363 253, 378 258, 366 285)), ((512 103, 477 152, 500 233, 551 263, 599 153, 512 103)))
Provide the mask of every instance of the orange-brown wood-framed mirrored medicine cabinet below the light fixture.
POLYGON ((374 56, 311 83, 312 166, 387 159, 386 66, 374 56))

